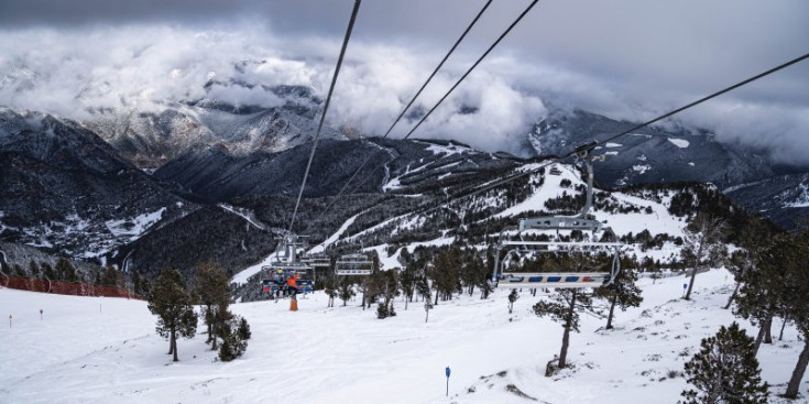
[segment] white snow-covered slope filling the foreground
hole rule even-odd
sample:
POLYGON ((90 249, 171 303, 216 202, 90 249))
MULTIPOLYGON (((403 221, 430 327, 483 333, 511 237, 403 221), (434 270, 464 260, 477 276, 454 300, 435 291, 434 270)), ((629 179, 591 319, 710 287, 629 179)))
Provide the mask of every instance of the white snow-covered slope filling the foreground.
MULTIPOLYGON (((686 382, 669 372, 682 370, 701 338, 734 320, 721 308, 731 282, 721 270, 700 274, 685 302, 682 277, 642 280, 643 306, 619 312, 616 329, 582 316, 581 334, 571 336, 575 368, 555 378, 543 374, 562 329, 532 314, 540 296, 527 293, 512 315, 500 291, 485 301, 475 294, 441 302, 429 323, 422 303, 405 310, 401 299, 398 315, 384 320, 358 302, 326 308, 319 293, 302 298, 297 313, 286 301, 236 304, 252 326, 243 358, 216 361, 198 335, 178 341, 181 362, 172 363, 144 302, 3 288, 0 307, 13 324, 0 331, 0 403, 532 402, 517 390, 539 403, 674 403, 686 382)), ((797 361, 797 338, 787 327, 784 341, 762 346, 763 378, 774 393, 784 391, 797 361)), ((805 397, 807 389, 805 382, 805 397)))

